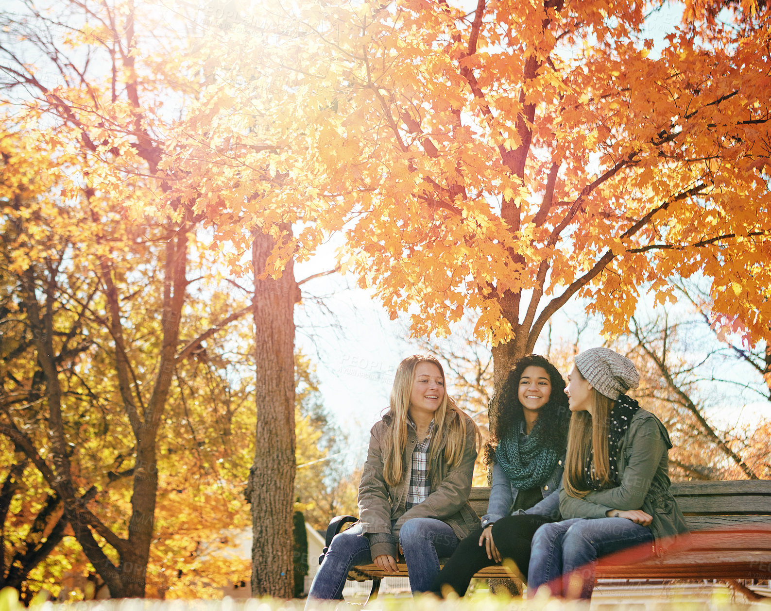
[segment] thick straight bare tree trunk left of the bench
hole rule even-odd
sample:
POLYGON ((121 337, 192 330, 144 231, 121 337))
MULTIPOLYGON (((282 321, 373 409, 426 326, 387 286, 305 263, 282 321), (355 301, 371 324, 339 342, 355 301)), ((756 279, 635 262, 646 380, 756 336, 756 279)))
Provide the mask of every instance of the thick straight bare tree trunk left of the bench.
MULTIPOLYGON (((281 227, 284 235, 291 227, 281 227)), ((276 246, 255 233, 254 327, 257 431, 249 475, 254 538, 252 596, 290 599, 294 591, 292 514, 295 489, 295 302, 300 290, 289 260, 281 277, 261 279, 276 246)))

